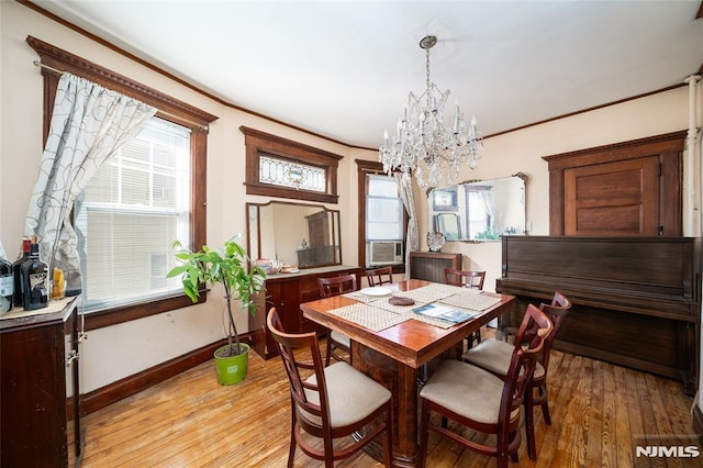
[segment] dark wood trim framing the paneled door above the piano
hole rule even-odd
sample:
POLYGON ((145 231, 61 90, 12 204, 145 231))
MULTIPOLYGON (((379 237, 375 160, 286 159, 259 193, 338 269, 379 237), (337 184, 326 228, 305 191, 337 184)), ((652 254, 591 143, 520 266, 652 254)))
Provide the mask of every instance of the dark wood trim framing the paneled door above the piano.
POLYGON ((656 156, 659 159, 660 235, 682 235, 681 166, 685 131, 544 156, 549 168, 549 235, 566 235, 566 171, 601 164, 656 156))

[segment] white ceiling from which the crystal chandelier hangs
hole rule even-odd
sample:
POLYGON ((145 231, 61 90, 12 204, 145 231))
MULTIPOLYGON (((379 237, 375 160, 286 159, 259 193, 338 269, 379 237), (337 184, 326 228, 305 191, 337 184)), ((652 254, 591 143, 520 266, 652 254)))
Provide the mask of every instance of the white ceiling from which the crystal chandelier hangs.
POLYGON ((486 135, 680 85, 703 64, 700 0, 35 3, 228 103, 360 147, 424 90, 427 34, 432 80, 486 135))

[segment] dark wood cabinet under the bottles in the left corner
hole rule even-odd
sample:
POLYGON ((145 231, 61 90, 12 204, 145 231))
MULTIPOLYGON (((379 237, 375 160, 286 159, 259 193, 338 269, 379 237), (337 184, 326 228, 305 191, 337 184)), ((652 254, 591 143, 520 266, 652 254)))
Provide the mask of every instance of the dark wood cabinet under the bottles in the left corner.
POLYGON ((38 315, 10 311, 0 320, 3 467, 66 467, 80 460, 79 301, 53 301, 38 315))

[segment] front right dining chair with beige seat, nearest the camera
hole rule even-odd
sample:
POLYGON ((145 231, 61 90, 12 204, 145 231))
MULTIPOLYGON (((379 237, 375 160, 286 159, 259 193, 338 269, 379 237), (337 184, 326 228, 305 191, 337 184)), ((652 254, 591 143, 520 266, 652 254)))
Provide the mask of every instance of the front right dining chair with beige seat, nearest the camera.
POLYGON ((515 345, 507 376, 501 379, 481 367, 461 360, 448 359, 439 365, 420 392, 421 428, 420 459, 424 464, 429 431, 482 455, 496 457, 499 467, 507 467, 507 457, 517 461, 522 443, 520 420, 523 400, 529 399, 529 386, 536 358, 554 325, 549 317, 529 304, 518 335, 522 339, 534 333, 527 346, 515 345), (461 426, 494 437, 475 438, 464 428, 436 424, 431 413, 451 420, 461 426), (494 445, 491 444, 494 442, 494 445))

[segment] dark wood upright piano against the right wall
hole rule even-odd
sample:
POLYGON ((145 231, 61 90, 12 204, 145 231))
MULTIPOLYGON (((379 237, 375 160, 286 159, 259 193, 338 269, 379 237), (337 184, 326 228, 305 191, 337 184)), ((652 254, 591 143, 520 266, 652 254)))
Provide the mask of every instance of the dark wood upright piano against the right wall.
POLYGON ((495 290, 517 297, 501 326, 555 291, 572 301, 554 348, 698 388, 701 237, 504 236, 495 290))

